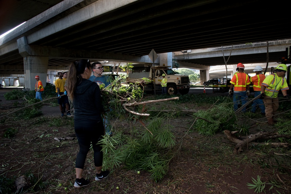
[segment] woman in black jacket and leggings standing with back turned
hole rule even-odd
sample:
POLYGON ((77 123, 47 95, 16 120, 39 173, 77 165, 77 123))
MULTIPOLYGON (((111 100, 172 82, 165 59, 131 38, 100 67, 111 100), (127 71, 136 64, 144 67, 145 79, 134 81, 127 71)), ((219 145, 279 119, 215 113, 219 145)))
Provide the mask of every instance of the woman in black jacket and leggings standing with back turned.
POLYGON ((76 158, 76 181, 74 187, 87 186, 90 181, 82 177, 84 163, 90 144, 94 150, 94 164, 96 168, 95 180, 104 179, 109 171, 101 171, 103 162, 102 147, 98 144, 104 135, 104 127, 101 118, 103 106, 99 86, 89 81, 91 76, 91 64, 88 59, 75 61, 70 65, 67 78, 67 89, 75 107, 74 125, 75 133, 80 146, 76 158))

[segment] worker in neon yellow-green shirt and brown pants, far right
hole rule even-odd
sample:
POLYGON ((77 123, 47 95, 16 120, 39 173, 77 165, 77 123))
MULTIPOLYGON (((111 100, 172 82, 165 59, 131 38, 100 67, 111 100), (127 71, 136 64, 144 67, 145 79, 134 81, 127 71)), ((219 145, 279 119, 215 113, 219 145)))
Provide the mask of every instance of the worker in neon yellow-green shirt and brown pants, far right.
POLYGON ((284 77, 287 65, 280 64, 276 67, 276 72, 267 76, 261 85, 261 97, 265 104, 265 113, 269 125, 274 125, 274 115, 279 108, 278 93, 282 91, 284 98, 288 98, 289 87, 284 77))

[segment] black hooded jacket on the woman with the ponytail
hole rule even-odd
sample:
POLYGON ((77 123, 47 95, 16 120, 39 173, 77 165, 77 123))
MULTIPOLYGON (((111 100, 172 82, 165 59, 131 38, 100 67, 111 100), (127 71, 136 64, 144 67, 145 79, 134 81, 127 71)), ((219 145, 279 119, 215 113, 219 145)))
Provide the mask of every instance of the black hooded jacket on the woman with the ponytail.
POLYGON ((101 93, 98 84, 88 79, 76 86, 74 92, 74 119, 101 120, 101 112, 104 111, 101 104, 101 93))

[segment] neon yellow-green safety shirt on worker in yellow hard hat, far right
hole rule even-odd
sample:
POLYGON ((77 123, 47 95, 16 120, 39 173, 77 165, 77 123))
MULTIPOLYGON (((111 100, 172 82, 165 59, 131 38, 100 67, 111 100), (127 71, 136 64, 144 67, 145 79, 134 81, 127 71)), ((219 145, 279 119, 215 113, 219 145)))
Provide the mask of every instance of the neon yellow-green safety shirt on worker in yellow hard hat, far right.
POLYGON ((279 90, 288 90, 285 77, 279 77, 276 73, 268 75, 262 83, 265 88, 265 95, 276 98, 279 90))

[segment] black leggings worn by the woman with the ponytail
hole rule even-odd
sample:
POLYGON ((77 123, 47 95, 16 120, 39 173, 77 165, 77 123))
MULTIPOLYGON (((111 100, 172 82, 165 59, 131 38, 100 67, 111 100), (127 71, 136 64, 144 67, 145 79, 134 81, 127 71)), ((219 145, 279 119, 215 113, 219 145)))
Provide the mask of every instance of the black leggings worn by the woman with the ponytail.
POLYGON ((96 120, 74 120, 75 133, 80 146, 80 151, 76 158, 76 168, 84 168, 87 153, 92 142, 94 150, 94 165, 102 166, 103 152, 100 144, 97 144, 104 135, 104 127, 102 121, 96 120))

